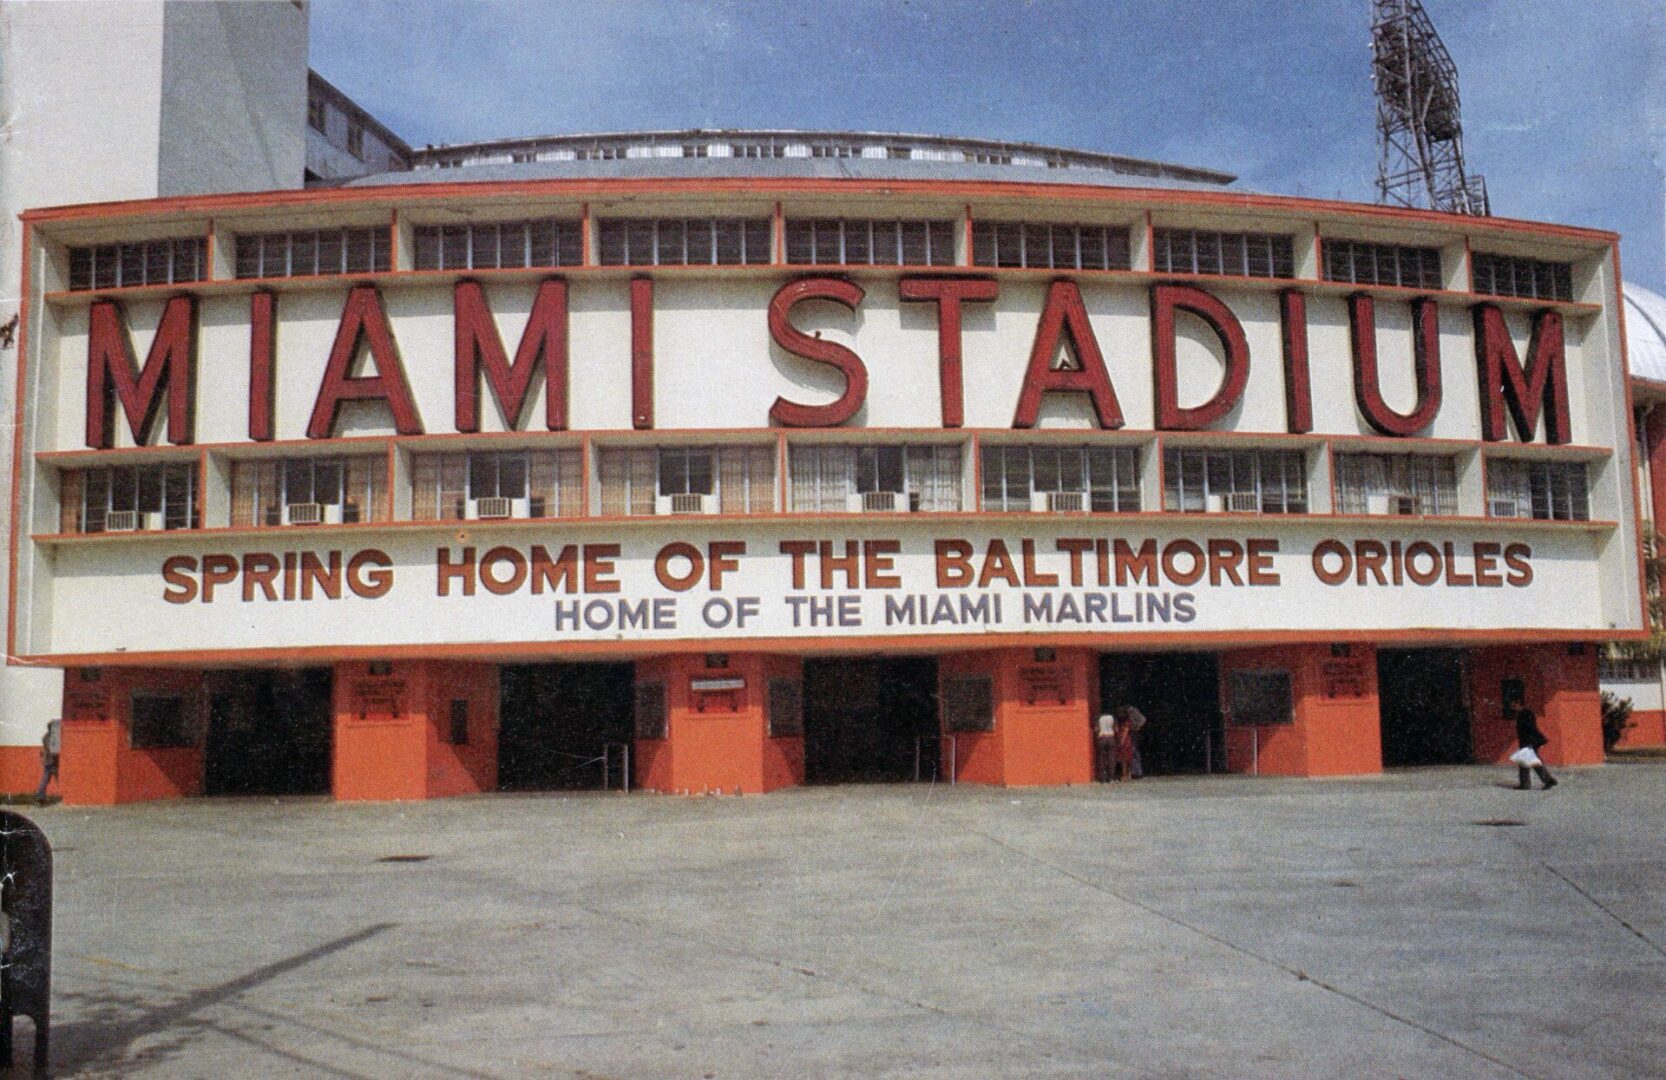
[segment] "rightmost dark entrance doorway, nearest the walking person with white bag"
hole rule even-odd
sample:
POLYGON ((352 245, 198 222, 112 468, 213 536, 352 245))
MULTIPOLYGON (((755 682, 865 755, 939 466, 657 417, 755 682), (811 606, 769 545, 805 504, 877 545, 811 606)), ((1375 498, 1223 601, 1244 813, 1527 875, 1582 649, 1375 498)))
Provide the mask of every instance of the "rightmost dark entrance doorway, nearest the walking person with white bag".
POLYGON ((1461 648, 1379 648, 1376 687, 1384 767, 1474 758, 1469 663, 1461 648))

